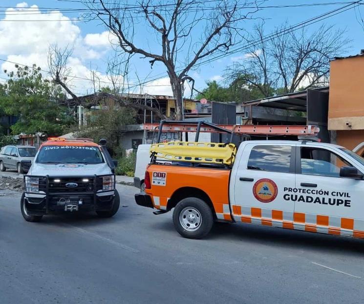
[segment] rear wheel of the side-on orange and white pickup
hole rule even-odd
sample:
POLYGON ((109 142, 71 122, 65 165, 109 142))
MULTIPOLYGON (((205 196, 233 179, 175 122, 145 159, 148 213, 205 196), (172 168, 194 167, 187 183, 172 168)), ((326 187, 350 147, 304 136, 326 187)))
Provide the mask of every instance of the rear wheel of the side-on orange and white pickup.
POLYGON ((213 227, 214 216, 211 208, 202 199, 187 197, 174 208, 173 224, 182 237, 202 239, 213 227))

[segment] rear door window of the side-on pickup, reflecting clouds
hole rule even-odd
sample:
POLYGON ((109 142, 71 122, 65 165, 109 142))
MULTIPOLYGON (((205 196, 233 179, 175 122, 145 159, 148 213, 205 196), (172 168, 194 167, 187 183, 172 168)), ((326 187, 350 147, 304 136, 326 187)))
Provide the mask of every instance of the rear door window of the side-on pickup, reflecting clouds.
POLYGON ((255 146, 249 155, 248 169, 289 173, 291 146, 255 146))

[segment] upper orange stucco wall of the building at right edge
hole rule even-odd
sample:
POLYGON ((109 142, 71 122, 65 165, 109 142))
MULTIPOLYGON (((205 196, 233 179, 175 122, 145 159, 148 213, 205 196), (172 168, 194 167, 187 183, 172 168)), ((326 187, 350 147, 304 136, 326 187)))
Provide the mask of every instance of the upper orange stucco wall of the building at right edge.
POLYGON ((358 116, 364 116, 364 56, 334 60, 328 118, 358 116))

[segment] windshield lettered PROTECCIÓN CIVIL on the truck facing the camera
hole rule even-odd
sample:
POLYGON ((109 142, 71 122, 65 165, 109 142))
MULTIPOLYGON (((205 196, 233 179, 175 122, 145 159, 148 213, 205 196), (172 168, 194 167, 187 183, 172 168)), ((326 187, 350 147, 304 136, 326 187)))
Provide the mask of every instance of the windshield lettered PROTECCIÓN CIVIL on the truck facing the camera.
POLYGON ((37 163, 43 164, 101 164, 104 158, 98 147, 44 146, 38 153, 37 163))

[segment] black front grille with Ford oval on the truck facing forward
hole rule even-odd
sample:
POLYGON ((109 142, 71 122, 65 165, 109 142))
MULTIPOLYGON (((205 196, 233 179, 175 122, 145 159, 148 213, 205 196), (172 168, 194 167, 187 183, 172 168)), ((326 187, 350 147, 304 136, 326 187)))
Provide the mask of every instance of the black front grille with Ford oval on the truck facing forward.
POLYGON ((93 177, 49 177, 49 192, 93 192, 93 177), (84 181, 88 179, 88 181, 84 181), (60 180, 60 181, 55 181, 60 180), (73 184, 74 187, 67 187, 73 184), (77 186, 75 186, 77 185, 77 186))

